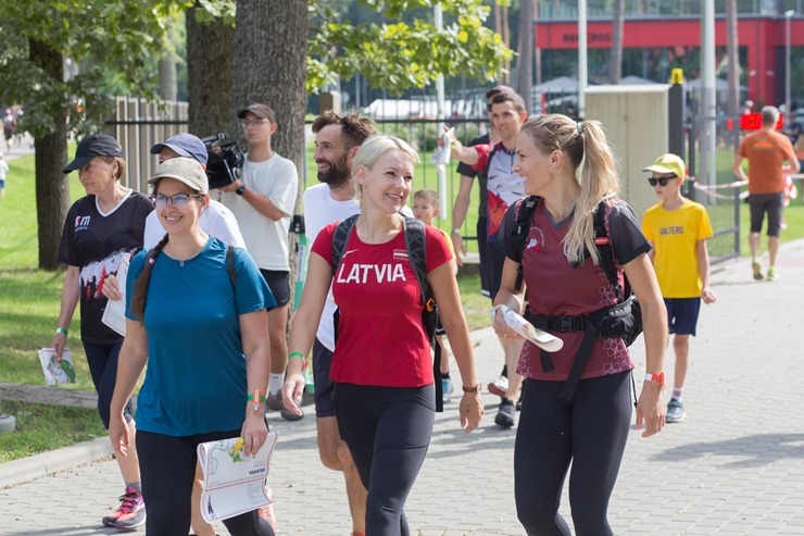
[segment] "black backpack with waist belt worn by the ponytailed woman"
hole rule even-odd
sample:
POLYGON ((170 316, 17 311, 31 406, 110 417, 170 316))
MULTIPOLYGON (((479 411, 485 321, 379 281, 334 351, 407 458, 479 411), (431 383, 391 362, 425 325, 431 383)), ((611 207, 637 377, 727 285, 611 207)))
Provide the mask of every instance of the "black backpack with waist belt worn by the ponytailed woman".
MULTIPOLYGON (((520 251, 522 254, 525 253, 525 240, 530 230, 530 222, 533 220, 533 213, 536 212, 539 199, 538 196, 530 196, 524 199, 516 213, 515 224, 511 230, 511 238, 516 251, 520 251)), ((614 249, 608 239, 608 229, 605 224, 605 201, 601 201, 594 212, 594 245, 600 255, 600 267, 614 286, 614 290, 618 297, 617 303, 604 307, 585 316, 543 316, 529 313, 525 315, 525 319, 539 329, 583 332, 583 339, 573 362, 567 383, 562 391, 562 397, 567 401, 570 401, 575 395, 575 388, 578 386, 583 366, 586 366, 589 360, 589 353, 591 352, 594 338, 620 337, 626 346, 631 346, 639 334, 642 333, 642 310, 639 301, 637 301, 637 297, 633 295, 625 274, 623 274, 625 285, 620 285, 617 277, 617 266, 614 264, 614 249)), ((580 265, 580 263, 577 265, 580 265)), ((554 369, 549 352, 542 350, 540 358, 542 371, 550 372, 554 369)))

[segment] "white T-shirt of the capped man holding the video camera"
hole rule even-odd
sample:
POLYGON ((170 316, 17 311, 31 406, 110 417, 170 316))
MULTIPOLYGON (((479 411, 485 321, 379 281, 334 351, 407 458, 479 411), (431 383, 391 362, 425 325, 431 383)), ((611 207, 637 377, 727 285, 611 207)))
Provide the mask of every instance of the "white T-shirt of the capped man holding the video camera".
POLYGON ((296 208, 299 191, 299 174, 296 164, 274 153, 268 160, 252 162, 246 155, 242 182, 246 188, 271 199, 274 207, 288 214, 276 222, 259 213, 235 191, 225 191, 221 201, 237 219, 246 247, 261 270, 290 271, 288 233, 290 216, 296 208))

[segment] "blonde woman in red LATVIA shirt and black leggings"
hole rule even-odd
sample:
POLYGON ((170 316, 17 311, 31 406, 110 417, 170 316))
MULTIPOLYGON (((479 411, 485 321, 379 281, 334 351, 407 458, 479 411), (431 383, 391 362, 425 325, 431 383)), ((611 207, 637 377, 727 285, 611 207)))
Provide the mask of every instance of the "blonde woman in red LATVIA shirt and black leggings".
MULTIPOLYGON (((286 404, 301 399, 302 365, 331 283, 340 309, 330 370, 336 416, 368 490, 366 534, 370 536, 410 535, 403 507, 427 453, 435 421, 432 358, 422 325, 420 289, 407 260, 399 214, 411 195, 416 162, 416 152, 398 138, 373 136, 362 145, 352 166, 361 215, 335 277, 330 261, 337 224, 318 234, 290 331, 286 404)), ((431 227, 426 228, 426 248, 428 282, 464 385, 460 415, 468 433, 480 422, 482 401, 451 269, 452 253, 443 234, 431 227)))

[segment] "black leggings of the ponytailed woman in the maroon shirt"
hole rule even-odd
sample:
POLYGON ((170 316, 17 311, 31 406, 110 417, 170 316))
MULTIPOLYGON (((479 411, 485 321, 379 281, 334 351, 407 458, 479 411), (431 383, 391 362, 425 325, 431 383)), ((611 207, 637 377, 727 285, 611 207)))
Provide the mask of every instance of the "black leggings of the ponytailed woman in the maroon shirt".
POLYGON ((606 511, 631 421, 629 372, 583 379, 566 402, 564 382, 527 379, 514 450, 516 513, 528 536, 569 536, 558 513, 569 474, 578 536, 611 535, 606 511))

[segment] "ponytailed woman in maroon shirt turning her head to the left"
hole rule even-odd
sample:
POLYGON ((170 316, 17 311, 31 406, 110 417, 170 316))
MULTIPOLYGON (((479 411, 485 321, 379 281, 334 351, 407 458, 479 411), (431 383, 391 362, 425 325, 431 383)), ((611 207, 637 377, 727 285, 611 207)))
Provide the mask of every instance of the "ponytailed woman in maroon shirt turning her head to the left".
MULTIPOLYGON (((522 310, 525 290, 515 290, 520 269, 529 314, 585 316, 617 302, 594 241, 594 213, 604 201, 620 282, 625 271, 642 306, 648 374, 638 375, 640 383, 645 379, 637 403, 637 427, 644 426, 643 437, 656 434, 665 416, 661 390, 667 312, 646 254, 651 245, 630 207, 617 199, 618 177, 605 134, 598 122, 542 114, 523 125, 516 153, 514 171, 525 178, 525 194, 540 200, 525 250, 516 251, 511 235, 506 237, 494 329, 503 337, 517 336, 505 326, 498 307, 522 310)), ((513 228, 522 203, 508 209, 504 227, 513 228)), ((571 462, 569 502, 576 534, 611 535, 606 512, 628 438, 629 377, 635 365, 621 338, 595 338, 574 396, 567 400, 563 388, 583 332, 553 335, 563 339, 561 350, 542 358, 539 348, 527 342, 517 366, 526 378, 514 449, 517 516, 529 536, 569 535, 558 504, 571 462)))

